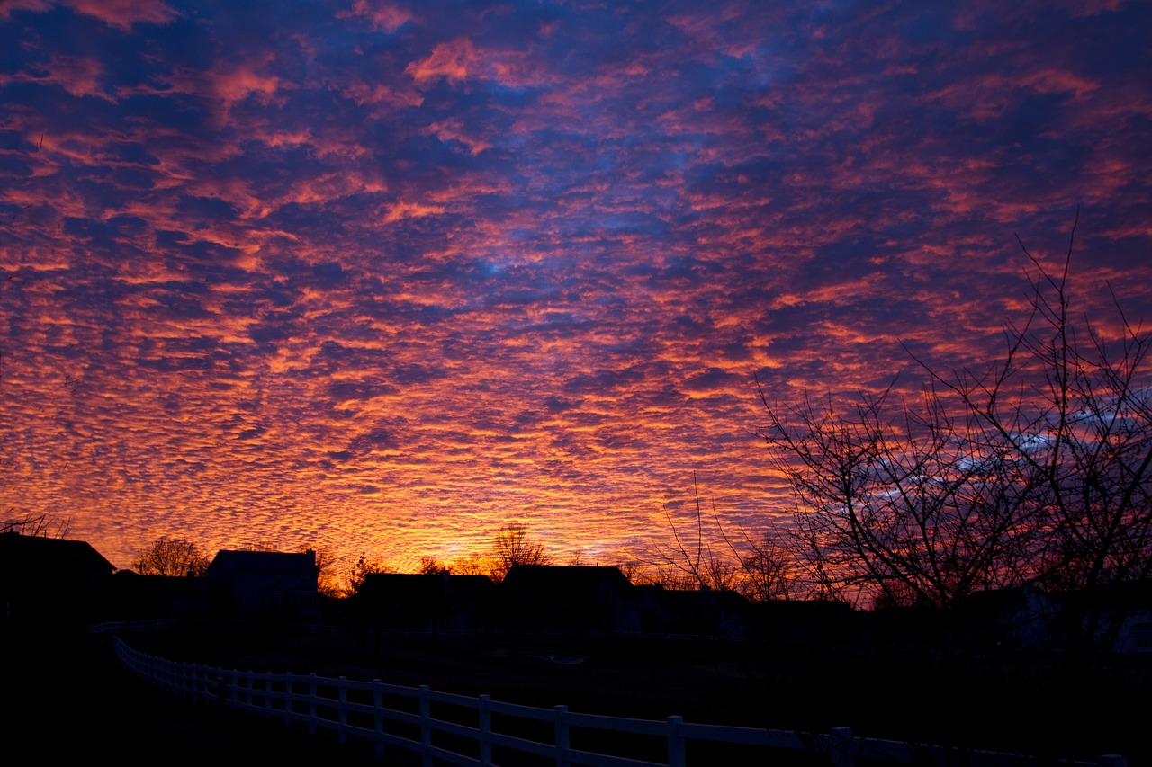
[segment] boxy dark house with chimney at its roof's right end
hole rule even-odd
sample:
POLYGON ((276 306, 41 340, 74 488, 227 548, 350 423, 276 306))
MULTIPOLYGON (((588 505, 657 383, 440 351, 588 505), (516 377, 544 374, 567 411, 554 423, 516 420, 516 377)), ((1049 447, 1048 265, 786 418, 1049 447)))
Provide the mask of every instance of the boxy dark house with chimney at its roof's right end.
POLYGON ((205 578, 221 584, 232 615, 318 616, 316 553, 217 552, 205 578))

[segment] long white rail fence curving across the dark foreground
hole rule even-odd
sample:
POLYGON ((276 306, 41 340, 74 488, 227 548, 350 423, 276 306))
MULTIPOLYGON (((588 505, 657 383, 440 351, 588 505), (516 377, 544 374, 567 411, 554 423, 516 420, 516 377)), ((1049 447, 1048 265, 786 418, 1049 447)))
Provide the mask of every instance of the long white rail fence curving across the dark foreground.
POLYGON ((826 764, 835 767, 854 767, 862 759, 941 767, 1127 767, 1127 760, 1114 754, 1094 762, 1041 762, 1020 754, 859 738, 848 728, 802 734, 692 724, 680 716, 666 721, 598 716, 570 712, 567 706, 536 708, 487 696, 435 692, 426 685, 406 688, 379 679, 357 682, 181 663, 138 652, 120 637, 113 639, 113 647, 126 667, 184 699, 259 713, 283 720, 286 726, 297 722, 312 735, 328 729, 340 743, 364 738, 374 744, 378 757, 391 747, 415 751, 424 767, 521 764, 526 754, 536 755, 536 764, 558 767, 687 767, 689 752, 694 764, 696 758, 699 764, 750 764, 753 758, 757 764, 767 764, 764 750, 825 754, 826 764))

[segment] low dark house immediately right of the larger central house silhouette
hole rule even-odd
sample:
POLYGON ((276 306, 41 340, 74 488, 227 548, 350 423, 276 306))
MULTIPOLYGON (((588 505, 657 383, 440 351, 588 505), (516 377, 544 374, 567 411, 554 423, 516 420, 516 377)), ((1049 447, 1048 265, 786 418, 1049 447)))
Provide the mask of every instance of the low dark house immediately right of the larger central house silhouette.
POLYGON ((742 639, 749 636, 749 601, 734 591, 680 591, 637 586, 645 633, 742 639))

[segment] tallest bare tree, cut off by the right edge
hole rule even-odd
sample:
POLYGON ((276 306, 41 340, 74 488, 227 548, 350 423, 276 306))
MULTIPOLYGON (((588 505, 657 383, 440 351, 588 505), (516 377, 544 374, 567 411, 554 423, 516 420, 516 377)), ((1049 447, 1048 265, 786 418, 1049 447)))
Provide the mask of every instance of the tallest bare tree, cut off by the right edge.
MULTIPOLYGON (((1034 485, 1044 524, 1038 577, 1091 588, 1152 576, 1152 337, 1119 301, 1112 337, 1071 311, 1073 237, 1059 275, 1036 268, 1032 316, 1002 365, 950 388, 1034 485), (1021 385, 1033 371, 1039 385, 1021 385)), ((940 377, 937 377, 938 379, 940 377)))

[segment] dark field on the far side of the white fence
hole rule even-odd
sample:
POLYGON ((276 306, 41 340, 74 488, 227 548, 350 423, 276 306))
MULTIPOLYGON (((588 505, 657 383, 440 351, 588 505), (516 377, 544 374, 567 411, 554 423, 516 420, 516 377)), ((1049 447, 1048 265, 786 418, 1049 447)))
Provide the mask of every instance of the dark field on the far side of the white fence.
POLYGON ((1062 656, 915 648, 782 648, 510 636, 313 637, 202 624, 128 637, 179 660, 256 671, 379 678, 574 712, 827 731, 1054 758, 1149 764, 1149 659, 1071 668, 1062 656))

